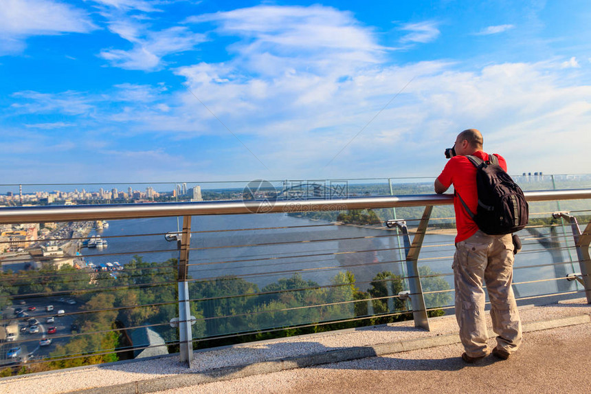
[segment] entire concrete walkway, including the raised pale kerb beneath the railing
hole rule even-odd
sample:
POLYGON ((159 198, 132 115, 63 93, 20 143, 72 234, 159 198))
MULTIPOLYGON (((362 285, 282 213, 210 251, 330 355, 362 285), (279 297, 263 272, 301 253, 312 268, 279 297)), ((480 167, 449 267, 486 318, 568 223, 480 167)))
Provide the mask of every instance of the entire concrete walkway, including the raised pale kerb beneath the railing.
POLYGON ((520 313, 523 347, 503 362, 464 364, 455 318, 445 316, 430 320, 431 331, 401 322, 198 351, 192 369, 170 355, 3 378, 0 392, 588 392, 591 305, 581 298, 520 313))

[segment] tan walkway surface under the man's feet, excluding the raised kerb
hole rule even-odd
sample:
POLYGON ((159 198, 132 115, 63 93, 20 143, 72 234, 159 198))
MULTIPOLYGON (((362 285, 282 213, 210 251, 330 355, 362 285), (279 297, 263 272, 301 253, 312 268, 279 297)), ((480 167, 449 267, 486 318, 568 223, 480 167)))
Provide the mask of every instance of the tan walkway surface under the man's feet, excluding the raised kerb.
POLYGON ((460 344, 159 391, 186 393, 589 393, 591 325, 528 333, 519 353, 475 365, 460 344))

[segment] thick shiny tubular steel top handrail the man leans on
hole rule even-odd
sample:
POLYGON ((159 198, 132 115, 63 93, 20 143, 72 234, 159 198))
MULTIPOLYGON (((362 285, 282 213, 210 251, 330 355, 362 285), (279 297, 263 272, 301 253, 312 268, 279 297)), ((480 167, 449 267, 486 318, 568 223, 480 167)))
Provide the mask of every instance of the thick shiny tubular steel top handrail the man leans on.
MULTIPOLYGON (((527 201, 591 199, 591 189, 532 190, 524 192, 527 201)), ((453 195, 398 195, 348 197, 338 199, 289 199, 269 201, 195 201, 149 204, 103 204, 82 206, 21 206, 0 208, 0 224, 45 221, 83 221, 138 219, 145 217, 242 215, 249 213, 303 212, 313 210, 353 210, 399 208, 453 204, 453 195)))

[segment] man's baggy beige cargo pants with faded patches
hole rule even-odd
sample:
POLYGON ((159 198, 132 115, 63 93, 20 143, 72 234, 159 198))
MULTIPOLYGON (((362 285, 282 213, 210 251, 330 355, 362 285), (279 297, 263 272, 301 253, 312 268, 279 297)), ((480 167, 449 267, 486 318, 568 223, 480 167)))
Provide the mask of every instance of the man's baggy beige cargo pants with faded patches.
POLYGON ((478 230, 469 239, 456 243, 452 265, 456 285, 456 319, 460 326, 460 339, 470 357, 488 353, 483 280, 491 301, 493 331, 498 335, 497 347, 511 353, 521 344, 521 320, 511 288, 513 259, 511 234, 488 235, 478 230))

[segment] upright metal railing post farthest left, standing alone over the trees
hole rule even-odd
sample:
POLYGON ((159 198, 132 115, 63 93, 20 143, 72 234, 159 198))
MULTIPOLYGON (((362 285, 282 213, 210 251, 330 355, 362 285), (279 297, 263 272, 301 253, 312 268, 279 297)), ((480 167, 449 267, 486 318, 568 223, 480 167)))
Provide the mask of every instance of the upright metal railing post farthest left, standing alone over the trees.
POLYGON ((179 345, 181 362, 187 362, 189 368, 193 360, 193 335, 191 331, 191 309, 189 296, 188 262, 191 240, 191 217, 183 216, 183 232, 179 252, 179 345))

